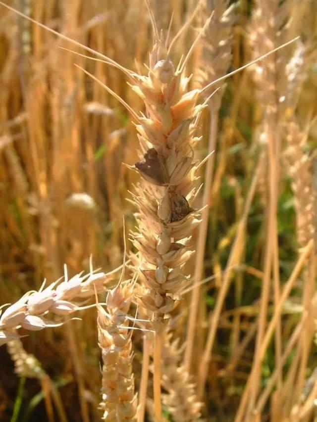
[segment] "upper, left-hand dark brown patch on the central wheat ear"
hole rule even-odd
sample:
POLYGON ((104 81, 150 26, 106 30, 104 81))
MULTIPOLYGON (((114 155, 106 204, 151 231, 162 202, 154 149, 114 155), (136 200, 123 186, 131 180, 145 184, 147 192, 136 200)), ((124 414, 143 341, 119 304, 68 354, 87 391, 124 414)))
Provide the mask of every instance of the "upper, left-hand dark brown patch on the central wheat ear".
POLYGON ((155 148, 150 148, 144 154, 144 161, 135 163, 135 167, 141 175, 154 185, 166 185, 168 183, 168 174, 163 157, 161 157, 155 148))

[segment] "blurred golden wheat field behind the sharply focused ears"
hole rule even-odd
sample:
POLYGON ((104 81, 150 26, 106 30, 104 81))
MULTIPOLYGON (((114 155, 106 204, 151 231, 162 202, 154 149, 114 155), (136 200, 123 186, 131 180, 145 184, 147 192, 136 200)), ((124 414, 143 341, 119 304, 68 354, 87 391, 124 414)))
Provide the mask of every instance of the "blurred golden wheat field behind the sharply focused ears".
MULTIPOLYGON (((5 3, 144 72, 153 46, 144 0, 5 3)), ((188 62, 192 88, 300 39, 217 85, 202 114, 195 159, 215 152, 200 168, 205 190, 194 205, 208 207, 186 263, 192 287, 162 351, 162 418, 317 421, 317 2, 206 0, 193 16, 197 3, 151 1, 171 38, 193 18, 175 42, 176 63, 213 10, 188 62), (192 416, 182 413, 186 400, 192 416)), ((0 305, 58 280, 64 264, 69 277, 89 272, 90 256, 94 268, 116 269, 124 226, 128 234, 136 225, 126 198, 139 176, 122 164, 139 161, 135 125, 74 63, 136 112, 143 103, 122 72, 59 47, 89 54, 0 6, 0 305)), ((0 347, 1 421, 100 420, 97 311, 75 316, 63 327, 20 329, 28 335, 0 347)), ((143 335, 133 330, 136 392, 143 335)))

